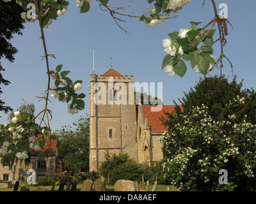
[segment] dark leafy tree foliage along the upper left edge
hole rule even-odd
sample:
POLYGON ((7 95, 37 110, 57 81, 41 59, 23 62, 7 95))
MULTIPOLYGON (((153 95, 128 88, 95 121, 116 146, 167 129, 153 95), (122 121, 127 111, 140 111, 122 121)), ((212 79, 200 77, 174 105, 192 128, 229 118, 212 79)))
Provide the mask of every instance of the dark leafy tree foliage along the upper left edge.
MULTIPOLYGON (((23 23, 25 22, 20 13, 23 9, 15 1, 4 2, 0 1, 0 59, 5 57, 8 61, 13 62, 13 55, 18 52, 17 48, 13 47, 10 40, 13 34, 22 34, 21 29, 24 29, 23 23)), ((0 84, 8 85, 10 81, 3 78, 1 71, 4 71, 0 62, 0 84)), ((0 87, 0 94, 3 93, 0 87)), ((8 113, 12 108, 4 106, 4 101, 0 99, 0 112, 8 113)), ((0 116, 1 117, 1 116, 0 116)))

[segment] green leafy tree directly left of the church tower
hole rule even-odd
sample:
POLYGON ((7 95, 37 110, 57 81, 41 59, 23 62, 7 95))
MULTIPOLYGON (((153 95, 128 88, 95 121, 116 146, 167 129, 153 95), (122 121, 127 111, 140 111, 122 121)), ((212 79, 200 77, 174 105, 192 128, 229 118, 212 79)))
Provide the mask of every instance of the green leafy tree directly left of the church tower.
POLYGON ((89 122, 89 118, 81 117, 77 124, 64 126, 56 131, 64 170, 70 171, 70 156, 72 156, 72 172, 89 170, 89 122))

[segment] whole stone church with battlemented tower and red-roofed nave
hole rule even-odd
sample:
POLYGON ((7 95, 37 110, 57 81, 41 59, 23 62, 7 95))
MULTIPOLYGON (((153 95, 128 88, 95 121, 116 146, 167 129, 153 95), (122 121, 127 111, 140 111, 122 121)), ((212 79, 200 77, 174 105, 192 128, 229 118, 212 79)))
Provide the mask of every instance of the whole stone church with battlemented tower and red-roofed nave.
POLYGON ((127 153, 138 163, 163 159, 159 142, 166 128, 159 117, 174 105, 136 105, 133 76, 111 68, 90 81, 90 171, 98 171, 105 154, 127 153))

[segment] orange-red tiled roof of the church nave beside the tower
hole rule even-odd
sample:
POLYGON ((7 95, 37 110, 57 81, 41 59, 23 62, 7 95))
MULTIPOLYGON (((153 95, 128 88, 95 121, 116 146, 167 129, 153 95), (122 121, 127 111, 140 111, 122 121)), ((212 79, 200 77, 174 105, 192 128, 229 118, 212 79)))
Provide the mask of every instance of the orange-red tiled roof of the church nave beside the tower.
MULTIPOLYGON (((151 131, 167 131, 167 128, 165 128, 162 124, 162 121, 159 118, 167 119, 167 116, 164 114, 164 112, 173 113, 175 105, 163 105, 163 108, 159 112, 151 112, 151 107, 154 107, 156 105, 142 105, 144 115, 148 120, 148 125, 150 126, 151 131)), ((183 107, 180 106, 181 110, 183 110, 183 107)))

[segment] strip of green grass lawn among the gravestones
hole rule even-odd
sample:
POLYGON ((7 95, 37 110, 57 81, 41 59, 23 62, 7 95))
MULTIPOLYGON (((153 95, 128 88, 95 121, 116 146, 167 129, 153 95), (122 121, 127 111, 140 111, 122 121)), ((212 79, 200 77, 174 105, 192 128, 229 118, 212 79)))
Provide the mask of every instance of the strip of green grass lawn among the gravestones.
MULTIPOLYGON (((27 187, 29 187, 29 186, 27 186, 27 187)), ((51 189, 52 189, 52 186, 44 186, 44 187, 47 191, 51 191, 51 189)), ((82 184, 77 184, 77 191, 81 191, 81 187, 82 187, 82 184)), ((152 191, 152 187, 153 187, 153 185, 149 185, 148 191, 152 191)), ((166 191, 166 187, 169 187, 170 191, 176 191, 176 189, 173 189, 173 186, 166 186, 166 185, 157 185, 158 189, 156 189, 156 191, 166 191)), ((29 191, 36 191, 37 188, 38 188, 38 186, 30 186, 29 191)), ((59 189, 59 186, 55 186, 55 191, 58 191, 58 189, 59 189)), ((114 186, 106 185, 106 189, 107 189, 107 191, 114 191, 114 186)), ((0 189, 0 191, 13 191, 13 187, 2 188, 2 189, 0 189)), ((20 191, 20 187, 19 187, 18 191, 20 191)), ((92 188, 92 191, 94 191, 94 188, 92 188)))

